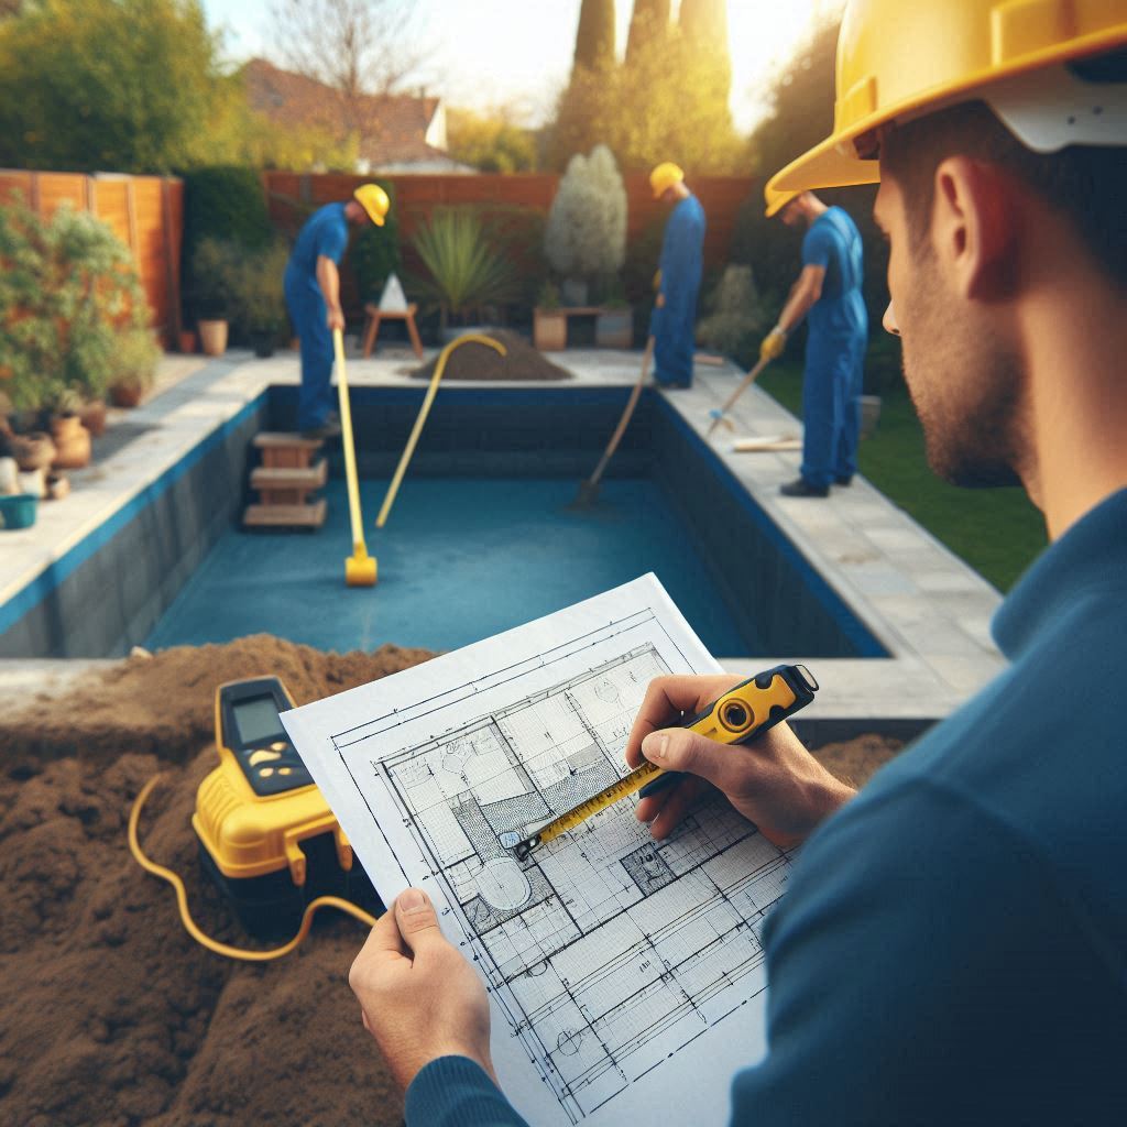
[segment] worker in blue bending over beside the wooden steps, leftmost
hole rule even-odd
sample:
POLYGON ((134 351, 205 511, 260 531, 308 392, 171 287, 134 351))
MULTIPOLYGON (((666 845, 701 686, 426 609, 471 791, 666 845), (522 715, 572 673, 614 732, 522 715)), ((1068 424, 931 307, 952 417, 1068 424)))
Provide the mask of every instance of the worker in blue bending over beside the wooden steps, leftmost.
POLYGON ((285 301, 301 340, 298 429, 308 438, 340 433, 332 409, 332 331, 344 331, 340 275, 348 228, 383 227, 391 202, 378 184, 362 184, 346 203, 326 204, 305 221, 285 268, 285 301))

